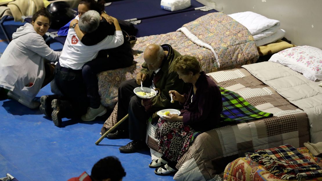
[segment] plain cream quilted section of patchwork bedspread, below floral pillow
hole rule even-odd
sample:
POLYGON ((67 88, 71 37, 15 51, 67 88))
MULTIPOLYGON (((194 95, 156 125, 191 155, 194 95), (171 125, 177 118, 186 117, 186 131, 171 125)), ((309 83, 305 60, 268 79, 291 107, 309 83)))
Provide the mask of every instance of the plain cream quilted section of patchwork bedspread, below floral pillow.
POLYGON ((255 63, 243 68, 304 110, 310 121, 311 142, 322 142, 322 87, 289 67, 275 62, 255 63))

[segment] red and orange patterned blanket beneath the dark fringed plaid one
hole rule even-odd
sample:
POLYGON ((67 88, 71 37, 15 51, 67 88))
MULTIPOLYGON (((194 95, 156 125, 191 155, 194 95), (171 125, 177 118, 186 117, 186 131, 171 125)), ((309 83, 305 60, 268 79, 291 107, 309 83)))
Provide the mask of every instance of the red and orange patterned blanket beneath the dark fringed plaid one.
MULTIPOLYGON (((298 148, 297 151, 305 159, 322 167, 322 159, 314 156, 306 147, 298 148)), ((237 158, 229 163, 225 168, 223 179, 225 181, 282 181, 281 178, 273 175, 263 165, 258 164, 249 157, 237 158)), ((322 181, 322 176, 303 177, 302 180, 322 181)))

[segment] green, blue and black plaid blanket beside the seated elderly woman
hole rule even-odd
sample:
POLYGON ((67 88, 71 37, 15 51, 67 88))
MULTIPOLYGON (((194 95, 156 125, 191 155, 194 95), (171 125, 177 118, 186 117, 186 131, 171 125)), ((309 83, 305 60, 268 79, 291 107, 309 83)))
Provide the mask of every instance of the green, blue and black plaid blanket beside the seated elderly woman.
POLYGON ((218 86, 223 99, 223 111, 221 121, 223 122, 249 122, 262 118, 272 117, 272 113, 265 113, 249 104, 245 99, 235 92, 218 86))

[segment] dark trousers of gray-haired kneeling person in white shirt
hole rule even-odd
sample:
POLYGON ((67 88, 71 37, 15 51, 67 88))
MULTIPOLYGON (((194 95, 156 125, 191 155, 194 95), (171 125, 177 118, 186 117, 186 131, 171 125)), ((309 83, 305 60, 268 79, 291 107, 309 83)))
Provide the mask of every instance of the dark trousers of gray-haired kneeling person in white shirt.
POLYGON ((86 114, 89 100, 81 70, 61 67, 58 62, 55 68, 55 82, 66 98, 61 100, 63 117, 72 119, 86 114))

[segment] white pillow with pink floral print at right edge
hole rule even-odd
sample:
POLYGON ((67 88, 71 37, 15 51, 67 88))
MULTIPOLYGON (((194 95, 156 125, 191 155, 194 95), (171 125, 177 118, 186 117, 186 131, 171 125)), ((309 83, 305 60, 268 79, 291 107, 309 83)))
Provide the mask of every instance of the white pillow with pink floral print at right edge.
POLYGON ((306 78, 322 80, 322 50, 310 46, 297 46, 275 53, 271 62, 288 66, 306 78))

